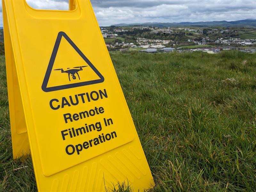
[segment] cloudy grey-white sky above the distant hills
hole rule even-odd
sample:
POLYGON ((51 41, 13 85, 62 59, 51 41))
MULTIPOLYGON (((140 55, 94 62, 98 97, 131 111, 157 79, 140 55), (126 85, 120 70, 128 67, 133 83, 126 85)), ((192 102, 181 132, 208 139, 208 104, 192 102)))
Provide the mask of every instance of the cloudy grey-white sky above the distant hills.
MULTIPOLYGON (((27 0, 36 9, 68 10, 68 0, 27 0)), ((256 19, 256 0, 91 0, 100 26, 119 23, 256 19)), ((3 27, 2 5, 0 27, 3 27)))

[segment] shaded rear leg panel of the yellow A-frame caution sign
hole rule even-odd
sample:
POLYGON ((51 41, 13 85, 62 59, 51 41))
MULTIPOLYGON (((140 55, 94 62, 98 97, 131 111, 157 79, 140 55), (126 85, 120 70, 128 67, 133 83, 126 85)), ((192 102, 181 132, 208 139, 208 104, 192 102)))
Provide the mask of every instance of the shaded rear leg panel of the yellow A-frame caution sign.
POLYGON ((12 154, 13 158, 26 156, 30 153, 28 134, 25 122, 25 116, 20 95, 20 86, 12 52, 11 37, 8 29, 5 7, 3 6, 4 26, 4 47, 6 76, 8 87, 9 111, 12 133, 12 154))

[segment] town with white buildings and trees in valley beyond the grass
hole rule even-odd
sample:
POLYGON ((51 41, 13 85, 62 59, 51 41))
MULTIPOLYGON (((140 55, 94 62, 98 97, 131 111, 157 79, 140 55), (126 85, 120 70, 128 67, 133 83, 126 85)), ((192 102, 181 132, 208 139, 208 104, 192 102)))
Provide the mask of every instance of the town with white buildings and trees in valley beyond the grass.
POLYGON ((256 28, 237 27, 100 27, 109 51, 217 53, 237 49, 256 52, 256 28))

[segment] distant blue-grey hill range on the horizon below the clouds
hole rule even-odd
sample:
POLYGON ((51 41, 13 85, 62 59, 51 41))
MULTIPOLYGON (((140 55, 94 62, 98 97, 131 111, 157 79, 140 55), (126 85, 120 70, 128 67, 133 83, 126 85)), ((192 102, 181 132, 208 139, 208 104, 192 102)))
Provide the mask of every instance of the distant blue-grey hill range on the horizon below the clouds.
POLYGON ((116 27, 126 27, 126 26, 153 26, 153 27, 181 27, 181 26, 197 26, 197 27, 230 27, 230 26, 251 26, 256 28, 256 19, 245 19, 237 21, 206 21, 206 22, 181 22, 181 23, 131 23, 125 24, 120 23, 116 27))

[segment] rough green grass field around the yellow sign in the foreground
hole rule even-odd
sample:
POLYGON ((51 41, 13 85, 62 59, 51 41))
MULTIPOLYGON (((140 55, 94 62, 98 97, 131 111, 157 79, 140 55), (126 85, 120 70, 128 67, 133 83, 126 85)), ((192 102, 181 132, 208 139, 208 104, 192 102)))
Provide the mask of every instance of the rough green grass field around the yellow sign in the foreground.
MULTIPOLYGON (((256 54, 111 58, 156 183, 152 191, 255 191, 256 54)), ((0 191, 36 191, 31 159, 12 160, 4 65, 1 56, 0 191)))

